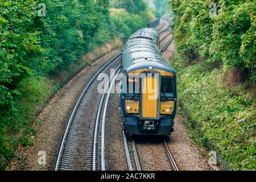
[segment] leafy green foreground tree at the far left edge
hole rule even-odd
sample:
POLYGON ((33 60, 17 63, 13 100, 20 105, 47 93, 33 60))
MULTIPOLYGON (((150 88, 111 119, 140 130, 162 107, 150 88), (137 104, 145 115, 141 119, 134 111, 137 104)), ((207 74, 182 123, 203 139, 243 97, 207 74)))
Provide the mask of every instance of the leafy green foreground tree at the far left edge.
POLYGON ((13 105, 17 84, 42 64, 34 1, 0 2, 0 114, 13 105))

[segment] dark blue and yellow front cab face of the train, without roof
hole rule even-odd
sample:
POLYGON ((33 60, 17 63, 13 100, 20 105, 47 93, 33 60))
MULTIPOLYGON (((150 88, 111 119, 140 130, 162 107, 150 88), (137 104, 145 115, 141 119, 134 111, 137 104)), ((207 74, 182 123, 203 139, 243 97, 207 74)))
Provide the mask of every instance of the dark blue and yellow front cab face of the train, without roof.
POLYGON ((121 93, 121 107, 127 133, 168 135, 174 130, 175 74, 146 69, 131 72, 126 88, 122 85, 122 90, 125 89, 127 93, 121 93))

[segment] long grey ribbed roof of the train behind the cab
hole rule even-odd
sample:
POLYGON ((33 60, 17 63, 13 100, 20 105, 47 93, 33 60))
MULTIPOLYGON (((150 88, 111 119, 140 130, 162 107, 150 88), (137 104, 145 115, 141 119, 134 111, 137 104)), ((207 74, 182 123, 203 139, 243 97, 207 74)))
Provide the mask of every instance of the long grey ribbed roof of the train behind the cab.
POLYGON ((123 71, 138 69, 160 69, 175 75, 174 68, 162 57, 158 48, 158 31, 153 28, 138 30, 126 42, 123 49, 123 71))

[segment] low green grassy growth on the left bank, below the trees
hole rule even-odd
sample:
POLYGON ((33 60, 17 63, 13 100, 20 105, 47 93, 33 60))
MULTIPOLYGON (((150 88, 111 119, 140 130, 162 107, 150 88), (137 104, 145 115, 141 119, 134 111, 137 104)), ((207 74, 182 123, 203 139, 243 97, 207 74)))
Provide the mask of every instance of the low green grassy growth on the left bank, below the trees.
POLYGON ((0 168, 4 169, 13 157, 18 143, 24 146, 33 144, 35 135, 32 125, 36 125, 35 115, 47 103, 51 95, 51 82, 42 76, 24 78, 16 88, 13 109, 1 115, 0 122, 0 168))

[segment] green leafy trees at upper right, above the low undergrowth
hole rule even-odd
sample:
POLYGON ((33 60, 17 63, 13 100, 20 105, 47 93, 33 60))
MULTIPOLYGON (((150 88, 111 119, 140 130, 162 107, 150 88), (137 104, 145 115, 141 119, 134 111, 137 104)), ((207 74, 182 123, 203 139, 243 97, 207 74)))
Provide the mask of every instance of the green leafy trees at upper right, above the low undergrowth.
POLYGON ((203 58, 222 63, 227 69, 249 70, 249 77, 255 78, 255 1, 218 1, 217 15, 213 16, 209 15, 210 3, 170 1, 178 53, 187 63, 195 57, 203 58))

